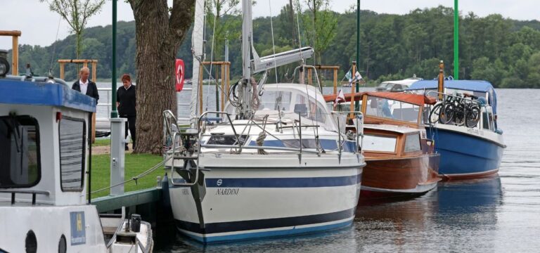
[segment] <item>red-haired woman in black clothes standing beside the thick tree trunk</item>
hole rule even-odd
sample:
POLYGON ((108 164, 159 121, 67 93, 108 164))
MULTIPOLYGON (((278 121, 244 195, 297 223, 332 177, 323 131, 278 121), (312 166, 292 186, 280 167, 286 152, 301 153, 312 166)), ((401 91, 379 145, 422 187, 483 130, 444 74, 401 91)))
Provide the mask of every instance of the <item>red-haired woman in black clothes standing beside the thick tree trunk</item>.
MULTIPOLYGON (((122 84, 116 91, 116 106, 118 108, 118 114, 120 117, 126 118, 125 125, 125 137, 127 138, 127 129, 131 133, 131 141, 133 143, 132 148, 135 149, 135 119, 136 119, 136 86, 131 84, 131 77, 129 74, 122 75, 122 84)), ((125 150, 129 150, 127 146, 125 150)))

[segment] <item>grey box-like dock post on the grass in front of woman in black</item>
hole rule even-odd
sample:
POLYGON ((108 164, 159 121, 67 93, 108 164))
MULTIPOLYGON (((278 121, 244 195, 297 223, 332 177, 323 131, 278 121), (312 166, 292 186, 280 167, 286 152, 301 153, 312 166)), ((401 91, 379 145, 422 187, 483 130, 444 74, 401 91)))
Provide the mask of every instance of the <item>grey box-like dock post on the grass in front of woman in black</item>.
MULTIPOLYGON (((110 119, 110 186, 124 181, 125 118, 110 119)), ((122 195, 124 185, 110 188, 110 195, 122 195)))

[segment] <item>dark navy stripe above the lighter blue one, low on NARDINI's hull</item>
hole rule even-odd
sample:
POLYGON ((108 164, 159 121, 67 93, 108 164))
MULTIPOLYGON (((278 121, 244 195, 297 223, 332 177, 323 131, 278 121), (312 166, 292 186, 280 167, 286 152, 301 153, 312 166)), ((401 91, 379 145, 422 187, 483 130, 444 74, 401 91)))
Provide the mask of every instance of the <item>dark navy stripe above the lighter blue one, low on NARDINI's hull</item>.
MULTIPOLYGON (((326 223, 330 221, 339 221, 342 219, 349 219, 354 217, 355 208, 347 209, 340 212, 333 212, 328 214, 313 214, 307 216, 295 216, 286 218, 274 218, 274 219, 259 219, 252 221, 231 221, 231 222, 219 222, 219 223, 207 223, 205 228, 200 228, 199 223, 193 223, 188 221, 176 220, 176 226, 184 231, 190 231, 193 233, 200 233, 203 235, 212 235, 212 233, 227 233, 227 232, 239 232, 236 236, 244 234, 244 236, 250 237, 250 233, 241 233, 241 231, 252 231, 257 229, 268 228, 283 228, 290 226, 302 226, 317 223, 326 223)), ((349 221, 349 223, 351 223, 349 221)), ((264 232, 269 233, 269 232, 264 232)))

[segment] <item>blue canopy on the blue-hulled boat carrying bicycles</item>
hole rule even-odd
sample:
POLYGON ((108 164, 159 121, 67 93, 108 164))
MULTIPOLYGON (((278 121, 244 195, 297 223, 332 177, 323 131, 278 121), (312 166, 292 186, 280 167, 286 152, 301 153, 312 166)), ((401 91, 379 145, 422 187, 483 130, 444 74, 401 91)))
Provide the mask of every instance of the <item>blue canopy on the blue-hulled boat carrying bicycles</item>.
MULTIPOLYGON (((411 84, 407 91, 423 90, 423 89, 437 89, 437 80, 421 80, 411 84)), ((493 108, 493 113, 497 114, 497 95, 495 89, 490 82, 482 80, 448 80, 444 81, 444 88, 459 89, 463 91, 478 91, 487 92, 488 103, 493 108)))

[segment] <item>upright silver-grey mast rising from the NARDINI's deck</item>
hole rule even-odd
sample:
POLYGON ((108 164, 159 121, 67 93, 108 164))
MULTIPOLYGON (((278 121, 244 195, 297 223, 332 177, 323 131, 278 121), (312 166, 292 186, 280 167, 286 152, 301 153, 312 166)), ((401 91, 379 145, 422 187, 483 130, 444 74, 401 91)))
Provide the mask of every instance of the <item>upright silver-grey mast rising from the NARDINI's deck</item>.
POLYGON ((252 39, 252 17, 251 0, 242 0, 242 107, 240 108, 240 118, 248 118, 251 115, 251 39, 252 39))

